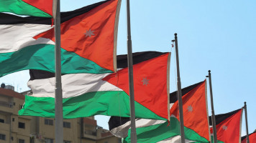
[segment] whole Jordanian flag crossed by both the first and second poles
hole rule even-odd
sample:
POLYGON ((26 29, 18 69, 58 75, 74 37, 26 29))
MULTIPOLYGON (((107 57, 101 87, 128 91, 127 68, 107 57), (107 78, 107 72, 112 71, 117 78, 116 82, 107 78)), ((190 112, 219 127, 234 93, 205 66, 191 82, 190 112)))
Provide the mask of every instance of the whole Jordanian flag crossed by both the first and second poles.
MULTIPOLYGON (((117 59, 116 73, 62 75, 64 119, 96 114, 129 117, 127 55, 117 59)), ((170 53, 140 52, 133 59, 136 117, 167 120, 170 53)), ((30 70, 30 75, 33 94, 26 96, 19 115, 55 117, 54 74, 30 70)))

